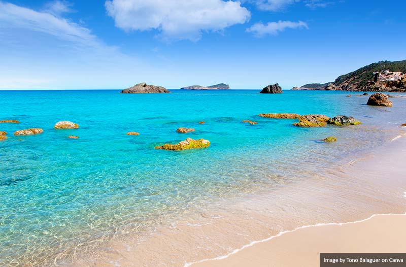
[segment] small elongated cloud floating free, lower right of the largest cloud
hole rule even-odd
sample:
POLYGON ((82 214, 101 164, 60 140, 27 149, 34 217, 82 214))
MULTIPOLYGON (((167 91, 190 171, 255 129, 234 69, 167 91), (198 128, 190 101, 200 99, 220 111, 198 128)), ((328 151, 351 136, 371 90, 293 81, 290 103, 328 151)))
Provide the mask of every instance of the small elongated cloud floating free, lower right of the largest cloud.
POLYGON ((268 22, 263 24, 262 22, 255 23, 247 29, 248 32, 252 32, 256 37, 263 37, 265 35, 278 35, 279 32, 284 31, 287 28, 297 29, 306 28, 308 29, 308 24, 303 21, 278 21, 278 22, 268 22))

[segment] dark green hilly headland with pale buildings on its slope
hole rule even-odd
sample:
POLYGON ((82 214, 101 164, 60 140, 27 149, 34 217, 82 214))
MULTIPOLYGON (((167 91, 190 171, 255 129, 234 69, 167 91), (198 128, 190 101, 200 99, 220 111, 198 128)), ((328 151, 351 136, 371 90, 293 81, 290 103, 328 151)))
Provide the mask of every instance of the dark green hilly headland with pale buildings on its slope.
POLYGON ((379 61, 329 83, 309 83, 292 90, 406 91, 406 60, 379 61))

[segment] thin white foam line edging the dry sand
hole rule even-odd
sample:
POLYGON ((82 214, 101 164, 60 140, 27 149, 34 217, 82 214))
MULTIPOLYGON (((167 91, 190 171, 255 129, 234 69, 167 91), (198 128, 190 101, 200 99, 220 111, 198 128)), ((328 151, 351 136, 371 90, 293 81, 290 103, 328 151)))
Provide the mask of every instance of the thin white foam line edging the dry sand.
MULTIPOLYGON (((404 192, 404 196, 406 197, 406 192, 404 192)), ((228 258, 229 256, 231 256, 231 255, 233 255, 233 254, 235 254, 235 253, 237 253, 237 252, 242 251, 242 250, 245 249, 245 248, 252 247, 253 245, 258 244, 258 243, 267 242, 267 241, 272 240, 272 239, 274 239, 274 238, 280 237, 280 236, 284 235, 285 233, 294 232, 294 231, 299 230, 299 229, 310 228, 310 227, 318 227, 318 226, 328 226, 328 225, 339 225, 339 226, 341 226, 341 225, 346 225, 346 224, 353 224, 353 223, 364 222, 364 221, 367 221, 367 220, 369 220, 369 219, 371 219, 371 218, 374 218, 374 217, 376 217, 376 216, 384 216, 384 215, 406 215, 406 213, 404 213, 404 214, 395 214, 395 213, 374 214, 374 215, 369 216, 369 217, 366 218, 366 219, 358 220, 358 221, 353 221, 353 222, 329 222, 329 223, 317 223, 317 224, 312 224, 312 225, 299 226, 299 227, 297 227, 297 228, 294 228, 293 230, 281 231, 281 232, 279 232, 277 235, 272 236, 272 237, 268 237, 268 238, 263 239, 263 240, 252 241, 251 243, 249 243, 249 244, 247 244, 247 245, 244 245, 244 246, 242 246, 241 248, 234 249, 233 251, 231 251, 230 253, 228 253, 228 254, 226 254, 226 255, 219 256, 219 257, 215 257, 215 258, 211 258, 211 259, 202 259, 202 260, 194 261, 194 262, 186 262, 185 265, 183 265, 183 266, 184 266, 184 267, 189 267, 189 266, 191 266, 192 264, 201 263, 201 262, 205 262, 205 261, 209 261, 209 260, 225 259, 225 258, 228 258)))

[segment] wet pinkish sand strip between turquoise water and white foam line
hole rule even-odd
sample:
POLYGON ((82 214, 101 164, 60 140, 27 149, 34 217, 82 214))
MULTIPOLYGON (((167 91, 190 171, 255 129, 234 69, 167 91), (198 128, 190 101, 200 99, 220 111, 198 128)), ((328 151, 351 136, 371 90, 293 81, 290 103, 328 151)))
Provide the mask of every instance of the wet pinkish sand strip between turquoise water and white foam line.
MULTIPOLYGON (((316 183, 320 185, 320 177, 314 181, 307 180, 306 186, 301 182, 280 188, 278 195, 285 198, 282 199, 283 208, 278 205, 278 199, 281 200, 278 196, 263 198, 264 195, 255 195, 252 199, 234 199, 234 203, 220 209, 185 214, 182 220, 155 228, 148 237, 110 240, 94 255, 79 256, 70 266, 148 266, 158 262, 173 266, 206 266, 217 264, 217 260, 211 259, 222 262, 228 255, 246 255, 245 249, 241 248, 256 247, 250 244, 267 244, 273 242, 275 236, 285 235, 282 233, 314 228, 303 225, 337 226, 364 222, 376 214, 404 214, 406 182, 401 177, 402 164, 396 160, 406 156, 406 139, 403 136, 400 134, 376 150, 332 168, 331 174, 323 178, 327 187, 320 188, 317 194, 314 194, 313 186, 316 183), (343 187, 329 186, 335 179, 340 179, 343 187), (354 184, 354 181, 357 183, 354 184), (345 190, 354 191, 353 199, 347 199, 347 195, 342 194, 345 190), (357 192, 359 195, 356 195, 357 192), (292 203, 285 207, 286 201, 292 203), (314 212, 313 209, 318 209, 317 203, 323 201, 331 202, 331 209, 314 212), (353 208, 346 207, 351 205, 353 208), (284 216, 290 217, 286 219, 284 216), (271 240, 262 242, 268 239, 271 240)), ((257 255, 257 252, 250 253, 253 254, 247 255, 248 259, 257 255)))

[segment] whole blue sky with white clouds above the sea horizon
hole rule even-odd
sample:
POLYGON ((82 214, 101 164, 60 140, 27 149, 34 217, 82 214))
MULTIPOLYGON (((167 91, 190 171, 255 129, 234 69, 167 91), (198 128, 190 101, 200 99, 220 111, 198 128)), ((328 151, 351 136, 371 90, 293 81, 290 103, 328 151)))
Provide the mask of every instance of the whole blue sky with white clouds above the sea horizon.
POLYGON ((0 90, 291 89, 406 59, 406 1, 0 0, 0 90))

